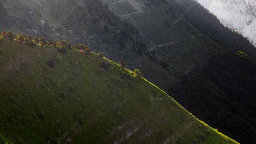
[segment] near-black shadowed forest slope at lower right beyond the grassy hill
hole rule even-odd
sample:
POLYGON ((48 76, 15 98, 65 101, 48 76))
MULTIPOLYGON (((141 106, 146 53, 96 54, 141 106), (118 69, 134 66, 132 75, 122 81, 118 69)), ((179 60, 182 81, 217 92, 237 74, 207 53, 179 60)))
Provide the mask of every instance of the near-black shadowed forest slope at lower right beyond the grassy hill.
POLYGON ((256 143, 256 61, 241 52, 215 55, 173 85, 186 109, 243 144, 256 143))

